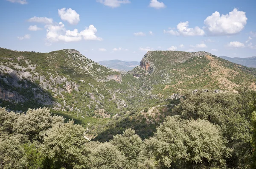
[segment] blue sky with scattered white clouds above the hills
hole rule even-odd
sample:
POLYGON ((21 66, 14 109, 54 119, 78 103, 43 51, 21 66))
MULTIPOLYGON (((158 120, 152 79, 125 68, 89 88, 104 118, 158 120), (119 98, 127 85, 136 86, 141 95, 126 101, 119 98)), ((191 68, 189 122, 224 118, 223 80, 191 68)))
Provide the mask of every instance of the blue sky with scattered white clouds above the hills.
POLYGON ((256 56, 256 0, 0 0, 0 47, 76 49, 93 61, 147 51, 256 56))

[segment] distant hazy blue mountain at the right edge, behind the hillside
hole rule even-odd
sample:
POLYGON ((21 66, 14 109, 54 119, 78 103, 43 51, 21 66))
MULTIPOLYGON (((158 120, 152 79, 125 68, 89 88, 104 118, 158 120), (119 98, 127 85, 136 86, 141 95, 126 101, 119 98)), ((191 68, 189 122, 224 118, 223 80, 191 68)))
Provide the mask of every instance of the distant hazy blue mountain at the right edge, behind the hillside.
POLYGON ((230 62, 246 66, 248 68, 256 68, 256 56, 252 57, 227 57, 227 56, 220 56, 222 59, 228 60, 230 62))

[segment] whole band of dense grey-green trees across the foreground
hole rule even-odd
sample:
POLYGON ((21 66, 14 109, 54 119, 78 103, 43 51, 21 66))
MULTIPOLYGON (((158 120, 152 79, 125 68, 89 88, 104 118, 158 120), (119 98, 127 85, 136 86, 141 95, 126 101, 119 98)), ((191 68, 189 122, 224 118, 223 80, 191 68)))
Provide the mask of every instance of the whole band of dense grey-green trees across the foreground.
POLYGON ((0 168, 250 168, 256 158, 256 92, 184 92, 154 135, 127 129, 108 142, 88 141, 84 127, 51 115, 0 109, 0 168))

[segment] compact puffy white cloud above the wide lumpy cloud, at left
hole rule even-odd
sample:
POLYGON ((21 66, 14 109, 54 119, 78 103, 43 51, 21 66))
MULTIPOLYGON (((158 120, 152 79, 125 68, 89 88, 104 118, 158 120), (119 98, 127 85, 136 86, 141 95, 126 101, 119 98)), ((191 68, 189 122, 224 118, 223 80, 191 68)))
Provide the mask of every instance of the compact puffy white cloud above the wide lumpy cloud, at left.
POLYGON ((76 13, 75 10, 72 10, 71 8, 58 9, 58 15, 61 17, 61 20, 67 21, 71 25, 76 25, 80 21, 80 18, 79 18, 80 15, 76 13))

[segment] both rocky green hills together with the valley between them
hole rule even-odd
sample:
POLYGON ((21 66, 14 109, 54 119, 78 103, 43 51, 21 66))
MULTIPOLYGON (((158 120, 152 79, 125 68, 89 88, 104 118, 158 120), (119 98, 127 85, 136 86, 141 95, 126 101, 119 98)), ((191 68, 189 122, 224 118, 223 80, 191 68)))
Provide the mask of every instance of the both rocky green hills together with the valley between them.
POLYGON ((127 128, 142 138, 152 136, 186 91, 234 91, 244 83, 255 89, 255 82, 256 68, 203 51, 148 51, 139 66, 120 73, 75 49, 0 48, 0 107, 18 112, 49 107, 88 127, 87 137, 98 141, 127 128))

